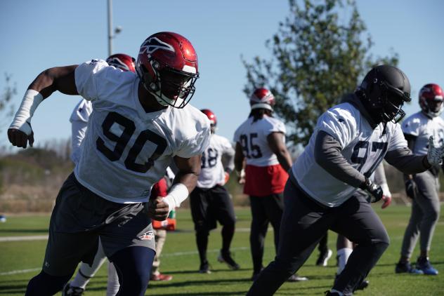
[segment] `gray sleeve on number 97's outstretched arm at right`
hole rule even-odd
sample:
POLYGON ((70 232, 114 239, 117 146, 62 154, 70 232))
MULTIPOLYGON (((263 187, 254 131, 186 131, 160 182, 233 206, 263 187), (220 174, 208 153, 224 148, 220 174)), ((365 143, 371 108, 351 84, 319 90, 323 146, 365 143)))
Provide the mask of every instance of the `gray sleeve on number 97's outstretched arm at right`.
POLYGON ((426 155, 414 155, 407 147, 387 152, 384 159, 407 175, 422 173, 430 168, 426 166, 426 155))

